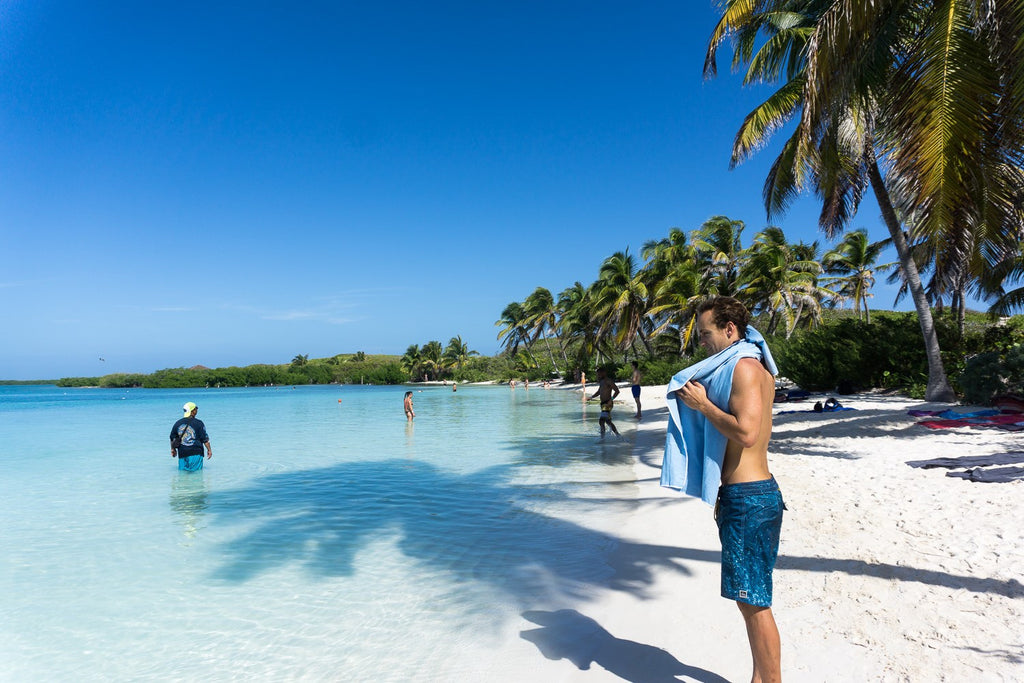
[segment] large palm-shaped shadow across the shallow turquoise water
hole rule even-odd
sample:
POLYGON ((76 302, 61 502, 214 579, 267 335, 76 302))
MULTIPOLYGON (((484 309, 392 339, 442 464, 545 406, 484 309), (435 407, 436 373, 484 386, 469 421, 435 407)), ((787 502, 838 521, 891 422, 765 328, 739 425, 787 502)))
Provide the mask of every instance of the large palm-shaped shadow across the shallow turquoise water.
MULTIPOLYGON (((523 502, 537 487, 507 483, 506 470, 457 474, 408 460, 344 463, 218 493, 210 509, 216 523, 254 526, 225 545, 217 577, 241 583, 295 563, 313 575, 350 575, 357 553, 384 538, 414 566, 525 604, 539 594, 586 599, 593 587, 642 592, 656 568, 689 574, 687 560, 718 557, 624 542, 531 511, 523 502)), ((551 493, 558 495, 557 486, 551 493)))

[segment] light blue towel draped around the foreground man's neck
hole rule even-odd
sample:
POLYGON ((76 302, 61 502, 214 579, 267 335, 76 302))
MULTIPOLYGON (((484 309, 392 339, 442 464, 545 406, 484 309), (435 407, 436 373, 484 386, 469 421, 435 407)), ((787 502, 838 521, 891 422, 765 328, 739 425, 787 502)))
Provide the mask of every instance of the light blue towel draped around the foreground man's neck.
POLYGON ((696 380, 708 390, 711 401, 728 412, 732 371, 740 358, 758 358, 768 372, 778 374, 765 338, 748 326, 745 339, 680 371, 669 382, 669 428, 662 462, 662 485, 697 497, 708 505, 715 504, 722 483, 722 461, 728 439, 700 412, 687 408, 676 396, 676 390, 696 380))

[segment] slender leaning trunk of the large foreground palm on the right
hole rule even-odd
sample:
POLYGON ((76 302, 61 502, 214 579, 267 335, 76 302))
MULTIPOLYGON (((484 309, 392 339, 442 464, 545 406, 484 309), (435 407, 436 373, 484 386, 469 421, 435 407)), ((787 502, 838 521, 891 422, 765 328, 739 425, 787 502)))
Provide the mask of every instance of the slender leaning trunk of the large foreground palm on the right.
POLYGON ((918 309, 918 322, 921 324, 921 334, 925 339, 925 354, 928 356, 928 388, 925 390, 925 399, 951 403, 956 400, 956 394, 949 386, 949 380, 946 379, 946 370, 942 365, 942 352, 939 348, 939 337, 935 332, 935 321, 932 319, 932 309, 928 305, 925 288, 921 284, 918 264, 913 261, 910 246, 903 236, 899 218, 896 217, 896 210, 893 209, 889 190, 886 189, 885 181, 882 179, 878 159, 874 158, 873 150, 870 146, 868 150, 870 159, 867 163, 867 174, 871 181, 871 189, 874 190, 874 198, 882 210, 882 218, 885 220, 889 234, 896 246, 903 280, 910 296, 913 297, 913 306, 918 309))

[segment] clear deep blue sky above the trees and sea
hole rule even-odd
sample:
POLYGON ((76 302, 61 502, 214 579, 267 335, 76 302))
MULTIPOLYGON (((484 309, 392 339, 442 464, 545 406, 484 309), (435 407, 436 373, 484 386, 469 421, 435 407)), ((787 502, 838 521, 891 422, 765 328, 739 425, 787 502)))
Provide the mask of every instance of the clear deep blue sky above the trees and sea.
MULTIPOLYGON (((490 354, 510 301, 673 226, 724 214, 750 244, 774 150, 729 171, 764 91, 727 62, 702 80, 715 20, 702 0, 0 0, 0 379, 455 335, 490 354)), ((817 210, 773 222, 824 244, 817 210)), ((886 237, 872 204, 854 225, 886 237)))

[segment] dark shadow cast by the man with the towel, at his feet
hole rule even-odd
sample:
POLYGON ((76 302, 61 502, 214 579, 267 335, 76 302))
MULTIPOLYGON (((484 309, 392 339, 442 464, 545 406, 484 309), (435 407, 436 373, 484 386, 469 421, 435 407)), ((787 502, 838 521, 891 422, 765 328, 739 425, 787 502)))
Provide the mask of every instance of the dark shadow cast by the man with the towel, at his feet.
POLYGON ((537 645, 547 658, 568 659, 580 670, 597 664, 633 683, 669 683, 679 681, 678 676, 706 683, 728 683, 718 674, 683 664, 659 647, 615 638, 574 609, 529 610, 522 616, 542 627, 521 632, 523 640, 537 645))

